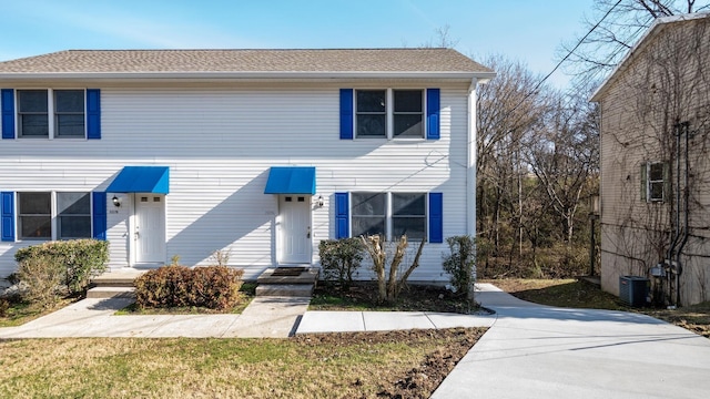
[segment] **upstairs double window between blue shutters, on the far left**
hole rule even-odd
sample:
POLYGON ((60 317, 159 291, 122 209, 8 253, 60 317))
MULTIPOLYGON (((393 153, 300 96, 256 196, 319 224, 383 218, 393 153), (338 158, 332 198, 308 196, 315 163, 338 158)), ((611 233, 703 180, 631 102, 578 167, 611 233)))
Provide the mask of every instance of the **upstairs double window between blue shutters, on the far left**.
POLYGON ((18 135, 85 136, 84 90, 18 90, 18 135))

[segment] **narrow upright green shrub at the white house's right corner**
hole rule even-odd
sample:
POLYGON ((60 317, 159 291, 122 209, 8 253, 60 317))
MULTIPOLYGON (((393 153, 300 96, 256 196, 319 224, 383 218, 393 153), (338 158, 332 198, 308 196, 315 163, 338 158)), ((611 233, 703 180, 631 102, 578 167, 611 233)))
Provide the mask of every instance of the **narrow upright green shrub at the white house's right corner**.
POLYGON ((447 237, 446 243, 452 252, 444 257, 443 267, 452 276, 452 285, 460 295, 473 300, 474 283, 476 283, 476 246, 471 236, 447 237))

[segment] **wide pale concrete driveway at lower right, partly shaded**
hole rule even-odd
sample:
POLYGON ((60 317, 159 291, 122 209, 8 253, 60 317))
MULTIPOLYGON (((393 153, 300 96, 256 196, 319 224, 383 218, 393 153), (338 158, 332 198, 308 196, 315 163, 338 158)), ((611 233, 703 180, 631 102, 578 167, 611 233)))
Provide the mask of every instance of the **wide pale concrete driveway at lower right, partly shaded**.
POLYGON ((645 315, 546 307, 478 288, 497 320, 433 398, 710 397, 710 339, 645 315))

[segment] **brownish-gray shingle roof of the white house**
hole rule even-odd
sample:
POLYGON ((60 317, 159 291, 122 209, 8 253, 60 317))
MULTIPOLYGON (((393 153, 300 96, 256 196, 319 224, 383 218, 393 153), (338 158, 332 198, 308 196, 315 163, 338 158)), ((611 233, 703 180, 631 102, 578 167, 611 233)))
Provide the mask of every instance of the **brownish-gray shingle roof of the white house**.
POLYGON ((67 50, 0 62, 0 73, 493 71, 452 49, 67 50))

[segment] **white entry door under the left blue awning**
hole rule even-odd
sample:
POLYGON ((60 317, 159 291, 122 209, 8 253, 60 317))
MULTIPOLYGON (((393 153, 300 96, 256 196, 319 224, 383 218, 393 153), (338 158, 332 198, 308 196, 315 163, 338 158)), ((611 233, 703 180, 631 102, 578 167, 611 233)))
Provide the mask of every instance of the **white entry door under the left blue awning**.
POLYGON ((135 194, 135 263, 165 262, 165 197, 135 194))

